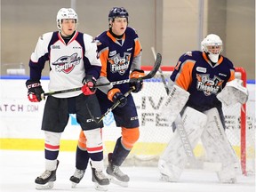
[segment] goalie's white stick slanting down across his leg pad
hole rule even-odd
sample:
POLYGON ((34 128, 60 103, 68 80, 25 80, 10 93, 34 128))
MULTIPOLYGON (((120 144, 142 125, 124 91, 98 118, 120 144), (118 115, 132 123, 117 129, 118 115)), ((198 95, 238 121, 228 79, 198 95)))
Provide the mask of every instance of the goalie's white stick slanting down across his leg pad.
MULTIPOLYGON (((156 52, 155 52, 154 47, 151 47, 151 51, 153 53, 154 59, 156 60, 156 52)), ((161 79, 162 79, 162 82, 164 84, 164 89, 165 89, 167 95, 169 95, 170 91, 169 91, 169 88, 168 88, 168 84, 165 81, 164 73, 163 73, 162 69, 158 68, 158 72, 159 72, 159 74, 161 76, 161 79)), ((211 167, 212 166, 211 163, 201 164, 199 161, 196 160, 196 156, 194 154, 194 151, 193 151, 193 148, 191 146, 191 143, 188 140, 188 134, 187 134, 187 132, 185 130, 185 127, 184 127, 184 124, 182 122, 182 118, 181 118, 180 114, 178 114, 178 116, 174 120, 174 124, 176 125, 176 129, 178 130, 178 133, 179 133, 179 136, 180 136, 180 140, 182 142, 182 146, 183 146, 183 148, 185 150, 186 156, 188 156, 188 160, 191 163, 191 166, 195 167, 195 168, 200 168, 200 167, 207 168, 207 166, 208 166, 208 170, 212 170, 213 169, 215 171, 220 171, 220 165, 218 167, 216 166, 216 167, 212 168, 211 167)))

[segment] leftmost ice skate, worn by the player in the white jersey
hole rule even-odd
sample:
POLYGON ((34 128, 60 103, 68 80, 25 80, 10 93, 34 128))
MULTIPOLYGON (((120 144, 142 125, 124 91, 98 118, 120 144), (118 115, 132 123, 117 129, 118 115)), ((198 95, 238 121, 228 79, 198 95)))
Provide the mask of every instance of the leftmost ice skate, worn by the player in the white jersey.
POLYGON ((56 171, 59 165, 59 161, 57 160, 56 169, 53 171, 46 170, 42 175, 36 178, 36 189, 50 189, 53 188, 53 182, 56 180, 56 171))

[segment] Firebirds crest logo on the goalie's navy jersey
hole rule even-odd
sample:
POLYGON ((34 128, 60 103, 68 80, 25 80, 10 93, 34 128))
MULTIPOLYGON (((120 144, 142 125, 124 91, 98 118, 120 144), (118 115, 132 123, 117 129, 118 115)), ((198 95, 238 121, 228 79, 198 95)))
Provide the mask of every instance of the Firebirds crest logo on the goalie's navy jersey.
POLYGON ((196 74, 197 84, 196 89, 198 91, 204 92, 205 96, 210 96, 211 94, 217 94, 220 90, 223 80, 218 76, 214 76, 212 79, 209 74, 202 75, 196 74))

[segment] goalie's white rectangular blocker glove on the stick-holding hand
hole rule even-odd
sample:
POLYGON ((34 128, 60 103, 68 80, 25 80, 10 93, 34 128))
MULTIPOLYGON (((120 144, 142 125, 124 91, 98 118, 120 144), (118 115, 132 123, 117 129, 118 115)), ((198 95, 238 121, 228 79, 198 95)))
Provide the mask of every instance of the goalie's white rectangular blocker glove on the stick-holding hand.
POLYGON ((169 95, 164 99, 164 104, 160 110, 161 116, 172 124, 187 103, 189 95, 189 92, 174 84, 170 89, 169 95))

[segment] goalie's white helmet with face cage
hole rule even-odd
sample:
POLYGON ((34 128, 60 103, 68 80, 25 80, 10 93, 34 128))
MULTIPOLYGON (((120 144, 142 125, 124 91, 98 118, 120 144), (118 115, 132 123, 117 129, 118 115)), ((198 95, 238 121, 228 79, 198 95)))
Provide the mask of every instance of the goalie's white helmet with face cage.
POLYGON ((213 63, 218 62, 219 55, 222 52, 222 40, 220 36, 215 34, 206 36, 201 42, 201 49, 208 54, 209 59, 212 60, 213 63))

